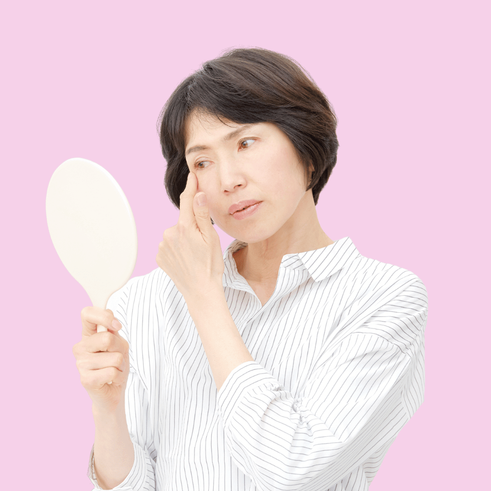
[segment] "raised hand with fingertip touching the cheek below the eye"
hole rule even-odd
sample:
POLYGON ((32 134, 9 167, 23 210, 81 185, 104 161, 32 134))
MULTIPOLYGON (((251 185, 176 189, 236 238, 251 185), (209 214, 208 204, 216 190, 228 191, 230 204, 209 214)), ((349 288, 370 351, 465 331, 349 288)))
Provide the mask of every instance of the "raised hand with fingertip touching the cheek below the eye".
POLYGON ((198 180, 188 175, 186 189, 180 196, 177 224, 164 231, 159 244, 157 264, 172 279, 186 301, 195 295, 206 295, 211 285, 222 288, 225 270, 220 239, 210 221, 208 205, 198 205, 198 180))

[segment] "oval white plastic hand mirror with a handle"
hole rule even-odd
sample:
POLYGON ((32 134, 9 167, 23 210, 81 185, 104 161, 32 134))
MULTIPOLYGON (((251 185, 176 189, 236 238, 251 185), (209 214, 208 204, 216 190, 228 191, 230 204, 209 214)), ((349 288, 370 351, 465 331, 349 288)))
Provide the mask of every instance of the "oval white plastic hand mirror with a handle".
POLYGON ((62 263, 92 305, 105 309, 136 264, 135 219, 123 190, 100 165, 69 159, 51 177, 46 217, 62 263))

